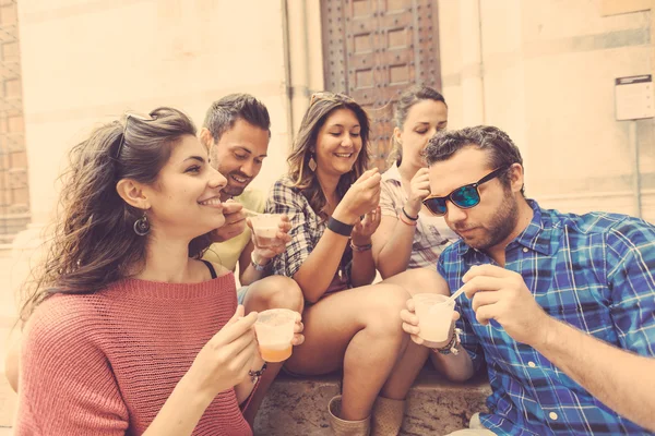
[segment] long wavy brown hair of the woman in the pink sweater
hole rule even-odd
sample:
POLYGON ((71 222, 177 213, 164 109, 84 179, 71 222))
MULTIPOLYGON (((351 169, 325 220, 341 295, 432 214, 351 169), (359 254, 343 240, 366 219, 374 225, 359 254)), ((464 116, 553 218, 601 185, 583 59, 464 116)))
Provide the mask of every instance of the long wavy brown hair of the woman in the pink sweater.
MULTIPOLYGON (((184 113, 157 108, 102 125, 71 149, 46 257, 23 286, 22 320, 53 293, 93 293, 144 267, 148 237, 133 230, 143 210, 128 205, 116 185, 121 179, 156 183, 172 146, 195 133, 184 113)), ((195 238, 189 255, 209 245, 209 234, 195 238)))

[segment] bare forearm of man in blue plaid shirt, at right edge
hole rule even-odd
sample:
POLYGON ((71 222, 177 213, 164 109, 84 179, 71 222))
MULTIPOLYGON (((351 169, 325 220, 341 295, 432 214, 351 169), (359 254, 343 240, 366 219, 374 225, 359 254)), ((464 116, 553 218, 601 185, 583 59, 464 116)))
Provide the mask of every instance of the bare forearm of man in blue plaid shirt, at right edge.
POLYGON ((655 359, 626 351, 550 318, 533 344, 608 408, 655 432, 655 359))

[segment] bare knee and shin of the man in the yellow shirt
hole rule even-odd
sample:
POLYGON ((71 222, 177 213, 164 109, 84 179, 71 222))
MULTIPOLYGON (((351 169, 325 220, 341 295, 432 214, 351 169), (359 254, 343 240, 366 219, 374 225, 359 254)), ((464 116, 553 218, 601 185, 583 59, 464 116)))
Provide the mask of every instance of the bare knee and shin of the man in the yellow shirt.
MULTIPOLYGON (((253 282, 248 288, 243 301, 247 314, 253 311, 262 312, 267 308, 290 308, 302 313, 302 305, 303 298, 300 287, 294 280, 284 276, 269 276, 253 282)), ((266 371, 260 378, 260 385, 252 395, 248 409, 243 411, 243 416, 251 427, 269 388, 275 380, 279 370, 282 370, 282 362, 269 363, 266 371)))

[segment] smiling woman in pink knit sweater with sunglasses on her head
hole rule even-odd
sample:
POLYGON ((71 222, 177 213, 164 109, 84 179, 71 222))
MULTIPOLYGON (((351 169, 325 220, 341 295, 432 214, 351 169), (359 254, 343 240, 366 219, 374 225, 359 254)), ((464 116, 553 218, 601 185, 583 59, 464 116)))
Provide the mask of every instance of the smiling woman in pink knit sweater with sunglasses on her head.
POLYGON ((23 307, 16 435, 252 434, 257 314, 237 307, 230 271, 199 261, 225 184, 175 109, 73 147, 23 307))

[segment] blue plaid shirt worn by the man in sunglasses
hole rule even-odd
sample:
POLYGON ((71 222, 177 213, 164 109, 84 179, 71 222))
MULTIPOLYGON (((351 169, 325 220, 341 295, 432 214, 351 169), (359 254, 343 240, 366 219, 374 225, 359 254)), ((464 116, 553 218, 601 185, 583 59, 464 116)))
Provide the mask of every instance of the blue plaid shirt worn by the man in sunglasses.
MULTIPOLYGON (((550 316, 616 347, 655 355, 655 227, 623 215, 560 214, 528 203, 533 220, 508 245, 505 269, 523 276, 550 316)), ((454 291, 468 268, 480 264, 496 263, 460 240, 441 254, 438 269, 454 291)), ((471 300, 460 298, 458 304, 462 344, 476 370, 483 359, 487 363, 490 413, 480 414, 487 428, 501 435, 650 434, 495 320, 479 324, 471 300)))

